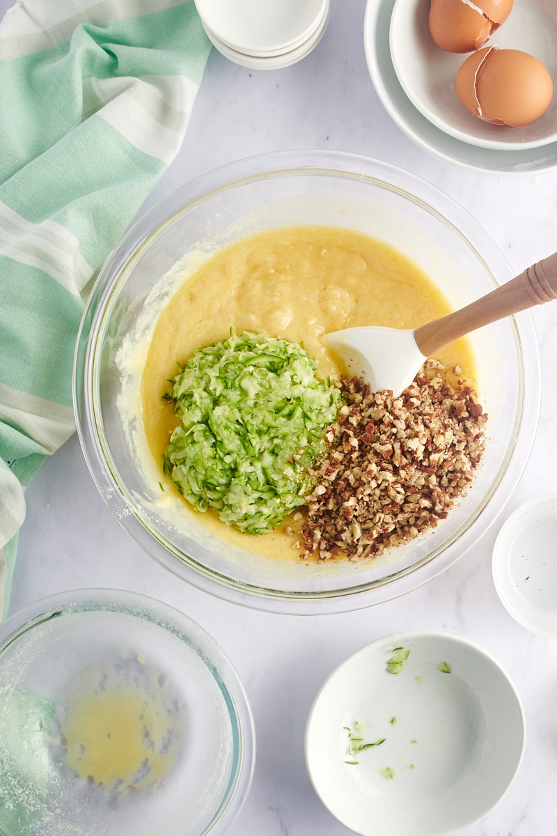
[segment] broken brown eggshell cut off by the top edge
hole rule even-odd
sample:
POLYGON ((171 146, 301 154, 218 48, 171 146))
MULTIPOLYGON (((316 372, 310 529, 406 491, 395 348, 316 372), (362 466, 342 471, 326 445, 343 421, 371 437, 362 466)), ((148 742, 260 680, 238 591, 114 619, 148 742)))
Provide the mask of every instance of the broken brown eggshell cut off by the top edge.
POLYGON ((447 52, 472 52, 509 17, 513 0, 431 0, 429 31, 447 52))

